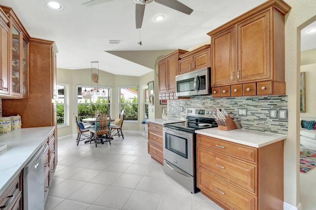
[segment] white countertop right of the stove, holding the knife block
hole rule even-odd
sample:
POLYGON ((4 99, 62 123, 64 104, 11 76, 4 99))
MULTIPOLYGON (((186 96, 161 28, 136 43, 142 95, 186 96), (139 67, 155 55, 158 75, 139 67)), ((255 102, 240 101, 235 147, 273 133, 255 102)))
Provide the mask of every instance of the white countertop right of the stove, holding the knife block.
POLYGON ((286 139, 286 135, 250 131, 245 129, 223 131, 219 130, 218 128, 207 128, 197 130, 196 133, 256 148, 263 147, 271 143, 275 143, 279 140, 286 139))

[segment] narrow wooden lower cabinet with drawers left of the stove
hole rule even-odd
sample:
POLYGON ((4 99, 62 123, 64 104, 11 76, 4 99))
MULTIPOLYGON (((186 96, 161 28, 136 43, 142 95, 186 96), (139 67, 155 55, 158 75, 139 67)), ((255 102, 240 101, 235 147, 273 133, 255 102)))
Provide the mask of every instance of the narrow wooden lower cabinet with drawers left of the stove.
POLYGON ((163 165, 162 125, 148 123, 148 153, 154 160, 163 165))

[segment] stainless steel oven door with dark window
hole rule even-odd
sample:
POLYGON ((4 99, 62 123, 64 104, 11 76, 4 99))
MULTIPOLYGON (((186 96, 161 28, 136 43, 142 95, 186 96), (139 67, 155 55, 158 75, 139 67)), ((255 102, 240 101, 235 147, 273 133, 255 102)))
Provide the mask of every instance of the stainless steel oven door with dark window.
POLYGON ((163 159, 194 176, 194 134, 163 127, 163 159))

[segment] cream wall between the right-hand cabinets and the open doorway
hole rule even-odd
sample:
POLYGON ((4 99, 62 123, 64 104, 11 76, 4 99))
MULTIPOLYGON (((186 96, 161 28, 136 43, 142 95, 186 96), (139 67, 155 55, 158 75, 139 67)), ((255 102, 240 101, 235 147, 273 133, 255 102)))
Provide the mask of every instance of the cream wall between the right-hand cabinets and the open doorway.
MULTIPOLYGON (((284 142, 284 202, 297 207, 300 204, 299 189, 299 74, 301 29, 313 16, 315 0, 287 0, 292 9, 285 16, 285 81, 288 95, 288 135, 284 142)), ((314 22, 312 20, 309 21, 314 22)))

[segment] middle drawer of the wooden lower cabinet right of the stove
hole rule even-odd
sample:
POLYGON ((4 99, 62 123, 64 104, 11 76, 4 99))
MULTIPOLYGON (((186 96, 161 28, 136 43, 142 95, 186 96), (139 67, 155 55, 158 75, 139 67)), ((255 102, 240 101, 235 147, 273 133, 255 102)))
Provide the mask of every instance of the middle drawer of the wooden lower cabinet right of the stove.
POLYGON ((197 146, 197 166, 257 195, 257 167, 197 146))

